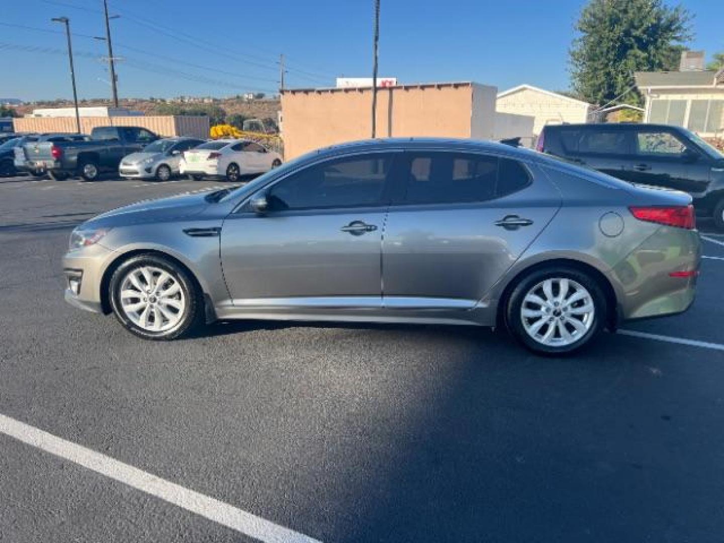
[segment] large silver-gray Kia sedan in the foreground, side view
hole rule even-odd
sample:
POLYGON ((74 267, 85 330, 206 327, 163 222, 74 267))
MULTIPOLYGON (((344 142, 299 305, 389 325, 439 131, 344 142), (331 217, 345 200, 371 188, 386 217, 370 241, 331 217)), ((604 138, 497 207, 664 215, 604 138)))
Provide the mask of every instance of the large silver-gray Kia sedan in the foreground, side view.
POLYGON ((699 253, 689 195, 498 143, 391 139, 96 216, 63 266, 70 303, 146 339, 217 319, 472 324, 555 355, 686 311, 699 253))

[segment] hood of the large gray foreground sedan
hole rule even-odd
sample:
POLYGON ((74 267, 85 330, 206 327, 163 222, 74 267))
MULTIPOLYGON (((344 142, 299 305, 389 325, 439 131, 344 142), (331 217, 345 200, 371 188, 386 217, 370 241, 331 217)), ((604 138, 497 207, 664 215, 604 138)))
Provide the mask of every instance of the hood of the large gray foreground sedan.
POLYGON ((142 222, 161 222, 172 219, 183 219, 198 215, 209 206, 206 196, 209 193, 182 194, 161 198, 160 200, 146 200, 111 209, 106 213, 93 217, 88 225, 93 227, 115 227, 142 222))

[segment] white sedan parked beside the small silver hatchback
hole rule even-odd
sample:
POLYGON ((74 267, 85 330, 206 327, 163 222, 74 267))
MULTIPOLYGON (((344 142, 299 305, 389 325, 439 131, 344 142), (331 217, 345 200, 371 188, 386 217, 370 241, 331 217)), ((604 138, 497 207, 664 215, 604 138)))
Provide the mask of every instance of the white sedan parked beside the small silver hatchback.
POLYGON ((185 151, 179 164, 182 175, 194 180, 225 177, 235 182, 242 175, 269 172, 282 164, 279 153, 251 140, 214 140, 185 151))

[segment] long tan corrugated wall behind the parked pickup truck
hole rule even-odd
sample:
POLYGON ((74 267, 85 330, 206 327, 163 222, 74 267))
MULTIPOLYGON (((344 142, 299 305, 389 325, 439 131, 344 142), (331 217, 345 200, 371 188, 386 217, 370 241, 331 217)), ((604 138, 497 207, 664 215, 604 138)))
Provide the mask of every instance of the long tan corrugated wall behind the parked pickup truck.
MULTIPOLYGON (((99 126, 140 126, 161 136, 209 138, 209 117, 159 115, 153 117, 80 117, 80 131, 90 134, 99 126)), ((75 132, 75 117, 20 117, 15 132, 75 132)))

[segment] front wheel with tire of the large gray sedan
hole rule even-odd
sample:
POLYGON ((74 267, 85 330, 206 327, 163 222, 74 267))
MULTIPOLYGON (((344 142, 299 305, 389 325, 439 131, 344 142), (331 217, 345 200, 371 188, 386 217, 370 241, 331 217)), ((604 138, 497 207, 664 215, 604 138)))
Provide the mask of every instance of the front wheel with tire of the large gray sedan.
POLYGON ((203 298, 188 271, 152 254, 129 258, 114 271, 109 298, 117 319, 146 340, 174 340, 203 318, 203 298))

